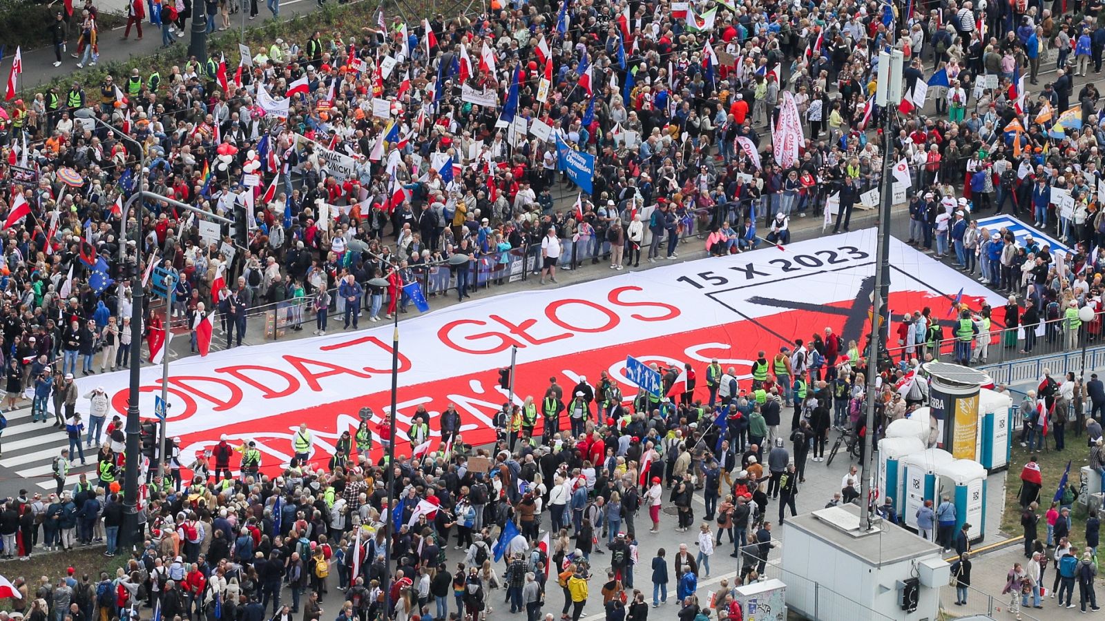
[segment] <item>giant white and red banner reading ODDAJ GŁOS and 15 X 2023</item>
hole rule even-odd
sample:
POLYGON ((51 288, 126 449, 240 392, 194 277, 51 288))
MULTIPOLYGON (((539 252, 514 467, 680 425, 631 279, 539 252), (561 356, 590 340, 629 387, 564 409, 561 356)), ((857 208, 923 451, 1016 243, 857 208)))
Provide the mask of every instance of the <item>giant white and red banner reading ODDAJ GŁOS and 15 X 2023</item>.
MULTIPOLYGON (((535 285, 534 291, 476 298, 402 322, 401 452, 410 454, 404 432, 418 406, 435 419, 453 403, 466 442, 494 441, 492 417, 506 400, 497 371, 509 365, 511 346, 518 348, 515 399, 520 403, 526 396, 539 401, 550 377, 567 394, 579 376, 593 386, 600 371, 619 381, 630 400, 636 388, 623 375, 627 355, 681 367, 691 362, 699 378, 696 397, 705 399, 705 367, 713 358, 748 378, 758 350, 770 355, 825 327, 845 341, 863 343, 875 242, 874 229, 855 231, 798 242, 781 252, 768 246, 559 288, 535 285)), ((1003 303, 897 240, 891 262, 895 322, 901 313, 925 306, 943 319, 960 287, 964 299, 1003 303)), ((315 443, 313 461, 325 465, 341 432, 356 430, 358 410, 368 406, 376 412, 375 429, 390 409, 391 329, 338 329, 324 337, 175 360, 169 366, 168 424, 170 435, 182 438, 181 462, 190 463, 194 451, 227 434, 239 442, 255 440, 264 465, 276 467, 291 460, 292 435, 306 422, 315 443)), ((125 412, 125 371, 78 382, 82 393, 106 387, 114 409, 125 412)), ((159 367, 141 370, 145 417, 152 418, 160 386, 159 367)), ((436 449, 436 421, 430 425, 436 449)))

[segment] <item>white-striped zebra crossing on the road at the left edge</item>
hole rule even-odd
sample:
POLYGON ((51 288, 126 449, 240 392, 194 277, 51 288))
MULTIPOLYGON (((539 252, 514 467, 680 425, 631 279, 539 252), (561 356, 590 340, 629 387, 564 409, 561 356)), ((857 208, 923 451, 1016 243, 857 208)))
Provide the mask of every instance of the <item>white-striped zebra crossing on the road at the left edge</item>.
MULTIPOLYGON (((53 412, 46 422, 32 423, 30 404, 4 412, 4 417, 8 419, 8 428, 0 434, 0 467, 25 478, 24 487, 54 491, 57 487, 53 477, 54 457, 61 454, 62 449, 69 449, 65 429, 53 425, 53 412)), ((82 438, 82 442, 83 440, 82 438)), ((66 488, 75 485, 81 474, 87 474, 90 480, 95 476, 97 451, 98 445, 84 449, 84 465, 81 464, 80 455, 71 455, 73 463, 65 477, 66 488)))

